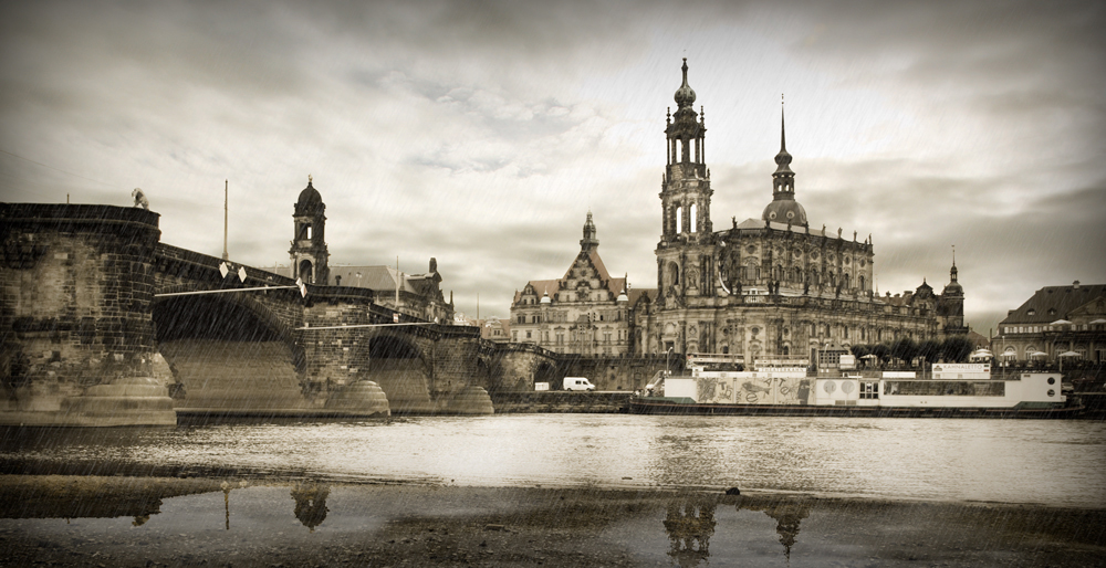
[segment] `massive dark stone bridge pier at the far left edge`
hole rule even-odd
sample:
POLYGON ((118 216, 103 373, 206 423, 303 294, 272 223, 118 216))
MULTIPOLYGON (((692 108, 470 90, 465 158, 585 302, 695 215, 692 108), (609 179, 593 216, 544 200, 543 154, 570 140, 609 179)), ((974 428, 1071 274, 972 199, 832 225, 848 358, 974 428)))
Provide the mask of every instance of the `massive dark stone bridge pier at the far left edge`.
POLYGON ((0 424, 176 424, 154 379, 158 214, 0 203, 0 424))

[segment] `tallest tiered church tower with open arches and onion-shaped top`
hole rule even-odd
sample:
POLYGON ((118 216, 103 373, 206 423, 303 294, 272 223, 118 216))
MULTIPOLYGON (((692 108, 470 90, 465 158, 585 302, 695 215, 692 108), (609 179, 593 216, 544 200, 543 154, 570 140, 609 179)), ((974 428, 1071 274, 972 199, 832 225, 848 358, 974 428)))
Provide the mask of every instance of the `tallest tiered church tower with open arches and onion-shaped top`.
POLYGON ((676 114, 667 117, 668 164, 660 185, 661 233, 657 244, 657 287, 661 306, 684 305, 682 297, 712 294, 712 227, 710 170, 703 146, 707 127, 696 95, 684 83, 676 90, 676 114))

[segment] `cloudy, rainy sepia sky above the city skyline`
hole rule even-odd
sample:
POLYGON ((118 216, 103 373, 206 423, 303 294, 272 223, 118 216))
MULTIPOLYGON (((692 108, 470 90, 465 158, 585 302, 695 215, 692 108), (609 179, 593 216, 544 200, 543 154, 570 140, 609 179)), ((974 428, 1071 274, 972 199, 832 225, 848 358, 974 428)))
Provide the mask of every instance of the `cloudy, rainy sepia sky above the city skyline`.
POLYGON ((3 2, 0 200, 131 206, 161 241, 289 264, 312 176, 330 262, 427 271, 470 316, 564 274, 592 211, 656 287, 687 57, 716 229, 772 199, 785 96, 810 223, 880 293, 949 280, 983 335, 1106 283, 1102 2, 3 2), (478 299, 479 296, 479 299, 478 299), (479 308, 478 308, 479 302, 479 308))

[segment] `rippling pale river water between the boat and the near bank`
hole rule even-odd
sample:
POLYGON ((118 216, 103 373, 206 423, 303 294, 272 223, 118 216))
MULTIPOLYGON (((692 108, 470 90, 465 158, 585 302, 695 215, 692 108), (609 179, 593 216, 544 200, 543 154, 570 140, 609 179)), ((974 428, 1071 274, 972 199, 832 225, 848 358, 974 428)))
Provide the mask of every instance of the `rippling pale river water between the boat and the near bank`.
POLYGON ((502 414, 3 431, 0 464, 27 463, 1106 508, 1106 423, 1085 421, 502 414))

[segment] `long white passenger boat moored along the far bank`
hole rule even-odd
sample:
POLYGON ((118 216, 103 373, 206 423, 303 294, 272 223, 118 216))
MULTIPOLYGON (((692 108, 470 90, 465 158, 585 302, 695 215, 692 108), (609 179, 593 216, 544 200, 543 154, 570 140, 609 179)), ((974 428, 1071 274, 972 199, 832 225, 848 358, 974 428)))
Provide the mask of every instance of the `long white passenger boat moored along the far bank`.
POLYGON ((1019 372, 993 377, 989 364, 933 364, 911 371, 808 371, 805 361, 758 361, 732 370, 726 356, 690 356, 690 375, 665 377, 635 397, 628 410, 648 414, 755 414, 904 418, 1071 418, 1061 376, 1019 372), (720 365, 721 362, 721 365, 720 365))

